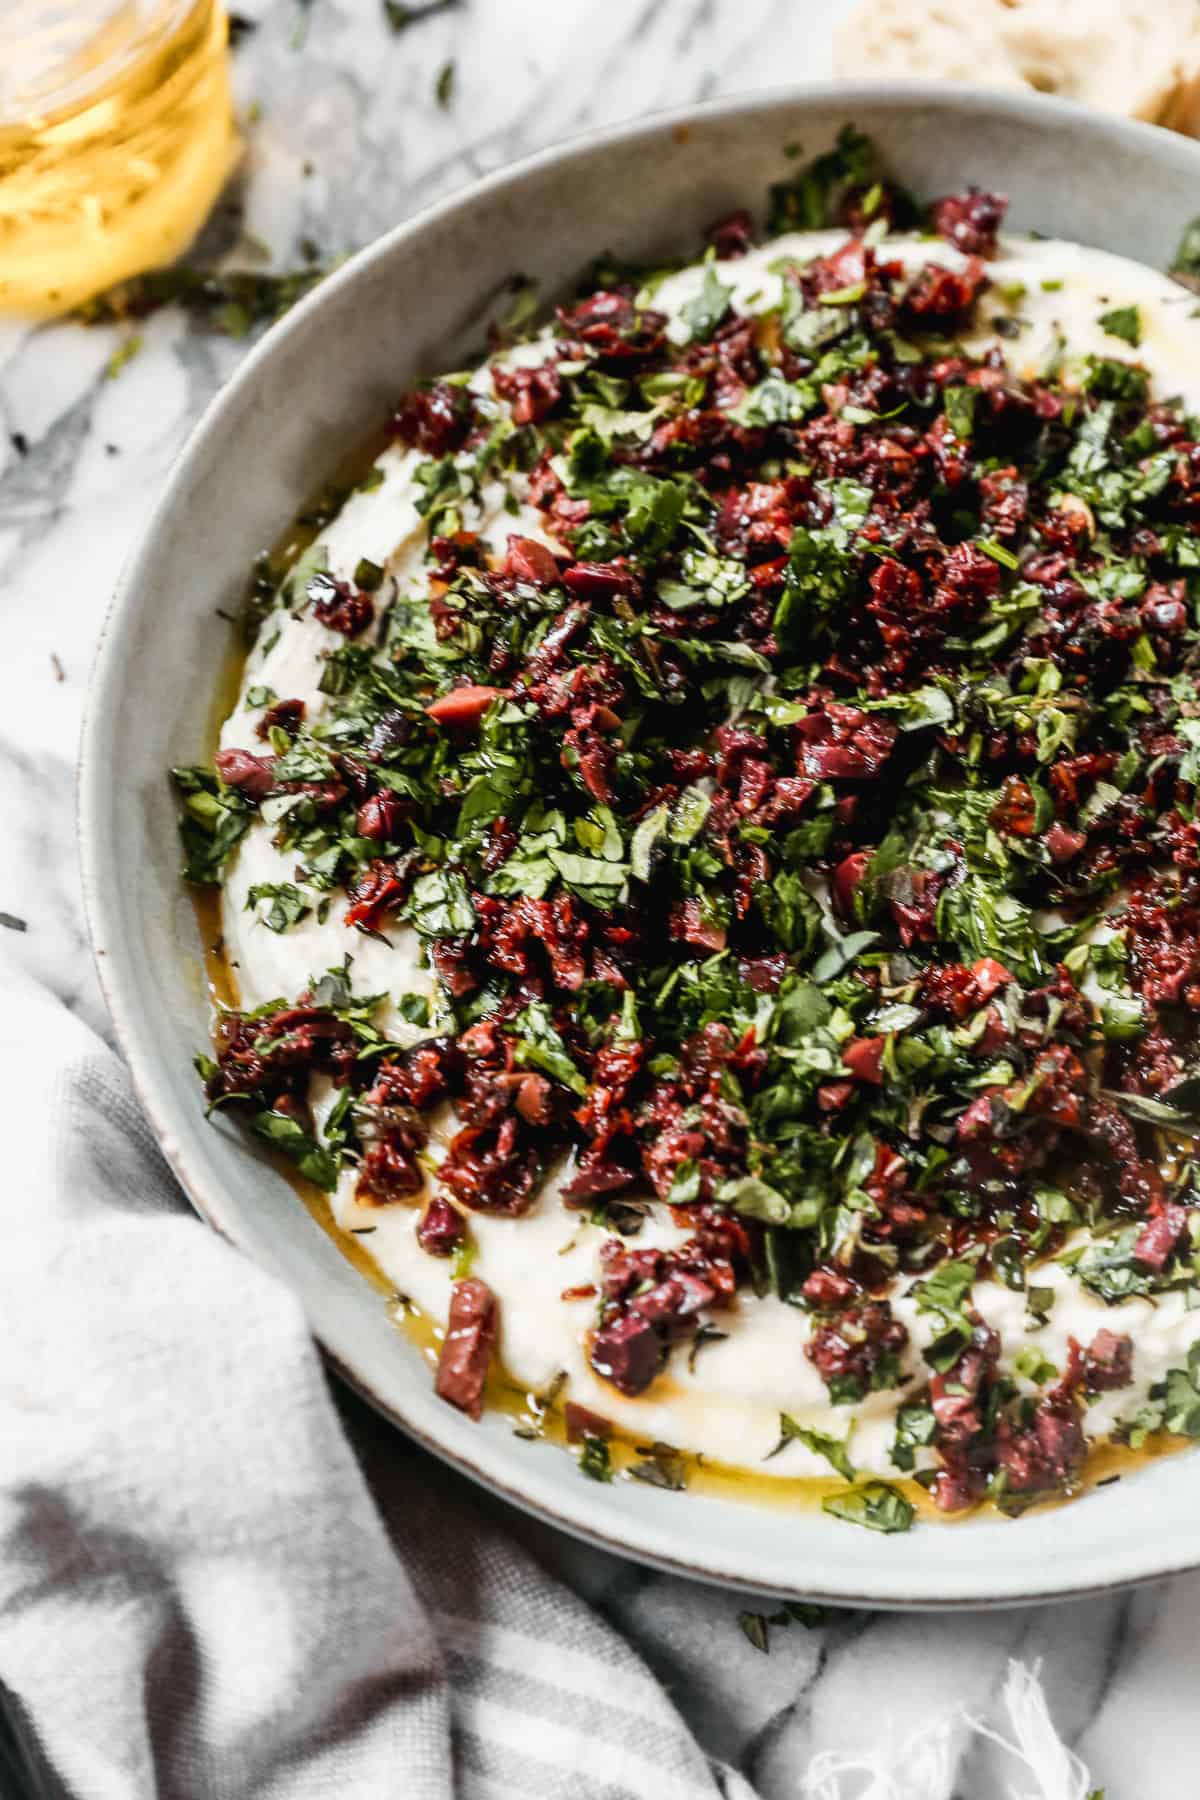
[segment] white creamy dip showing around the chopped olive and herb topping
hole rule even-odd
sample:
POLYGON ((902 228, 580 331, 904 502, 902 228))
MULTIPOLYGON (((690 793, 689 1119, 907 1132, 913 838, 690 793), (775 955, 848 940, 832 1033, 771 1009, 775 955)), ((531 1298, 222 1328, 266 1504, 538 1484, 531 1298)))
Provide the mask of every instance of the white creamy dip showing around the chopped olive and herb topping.
MULTIPOLYGON (((781 257, 808 261, 846 241, 844 232, 793 234, 718 265, 700 265, 667 277, 653 295, 653 306, 673 320, 673 335, 682 337, 682 306, 698 292, 705 266, 716 266, 725 286, 734 290, 734 306, 743 313, 772 308, 779 299, 781 277, 772 265, 781 257)), ((878 247, 880 259, 901 259, 909 266, 928 261, 961 266, 963 257, 941 241, 894 238, 878 247)), ((1013 328, 975 333, 964 342, 972 349, 999 344, 1016 374, 1034 374, 1049 356, 1061 351, 1067 367, 1085 355, 1135 355, 1151 376, 1160 398, 1180 394, 1200 407, 1200 322, 1196 301, 1164 275, 1123 257, 1058 241, 1007 238, 988 265, 991 288, 981 301, 982 319, 1016 320, 1013 328), (1099 313, 1135 304, 1141 311, 1142 338, 1135 353, 1115 344, 1097 324, 1099 313), (1063 351, 1065 344, 1065 351, 1063 351)), ((540 362, 547 338, 507 353, 509 358, 540 362)), ((491 394, 488 365, 471 385, 491 394)), ((497 414, 502 401, 491 401, 497 414)), ((419 488, 414 470, 425 461, 419 452, 390 448, 376 463, 383 481, 371 491, 356 491, 322 531, 324 565, 349 580, 362 558, 387 569, 399 590, 425 592, 425 524, 416 511, 419 488)), ((513 499, 493 482, 482 500, 466 509, 466 526, 502 551, 509 533, 540 538, 551 547, 543 517, 524 504, 520 477, 513 479, 513 499), (506 504, 507 500, 507 504, 506 504), (513 509, 513 500, 516 509, 513 509)), ((270 616, 259 644, 246 659, 239 700, 221 729, 223 749, 257 749, 255 725, 261 707, 246 704, 252 688, 266 686, 279 697, 302 698, 308 720, 318 722, 327 709, 318 691, 324 657, 344 643, 320 626, 293 598, 295 610, 270 616)), ((369 641, 369 634, 360 641, 369 641)), ((228 963, 241 1004, 259 1006, 272 997, 293 997, 309 977, 320 976, 353 956, 353 985, 358 994, 387 994, 380 1028, 401 1044, 410 1044, 439 1030, 437 983, 428 968, 421 938, 407 925, 389 925, 390 943, 347 929, 347 898, 335 893, 318 916, 322 895, 308 891, 313 911, 284 932, 266 929, 246 905, 250 887, 263 882, 293 882, 295 857, 272 846, 270 824, 255 823, 230 859, 223 889, 223 932, 228 963), (423 994, 434 1003, 428 1030, 408 1024, 398 1001, 405 994, 423 994)), ((322 1078, 313 1093, 318 1121, 331 1103, 329 1084, 322 1078)), ((452 1130, 446 1120, 443 1138, 452 1130)), ((437 1154, 437 1134, 432 1145, 437 1154)), ((905 1291, 894 1292, 892 1310, 909 1328, 910 1343, 901 1357, 903 1384, 871 1393, 853 1406, 831 1406, 822 1377, 804 1355, 811 1334, 810 1316, 777 1298, 756 1298, 741 1291, 730 1309, 714 1312, 712 1323, 729 1336, 711 1341, 689 1364, 687 1345, 676 1348, 664 1373, 651 1388, 626 1399, 601 1381, 587 1359, 587 1330, 594 1323, 596 1300, 563 1301, 565 1289, 599 1283, 599 1251, 610 1231, 588 1224, 587 1217, 563 1208, 563 1174, 549 1179, 533 1208, 520 1219, 470 1215, 475 1244, 471 1273, 497 1294, 500 1309, 500 1357, 509 1375, 531 1391, 543 1391, 560 1372, 567 1375, 565 1395, 610 1418, 639 1440, 662 1440, 678 1449, 698 1451, 730 1465, 754 1467, 768 1476, 824 1476, 826 1462, 801 1442, 763 1462, 779 1440, 779 1415, 788 1413, 801 1426, 844 1438, 858 1469, 894 1474, 889 1451, 894 1440, 894 1415, 909 1391, 923 1388, 928 1368, 921 1346, 939 1330, 939 1319, 921 1314, 905 1291)), ((421 1201, 389 1206, 360 1204, 354 1197, 354 1172, 342 1174, 333 1211, 347 1231, 369 1231, 358 1242, 396 1287, 435 1321, 444 1321, 452 1285, 452 1265, 426 1255, 416 1238, 421 1201)), ((644 1244, 678 1244, 687 1237, 664 1206, 655 1208, 642 1235, 644 1244)), ((1058 1264, 1036 1269, 1038 1285, 1054 1291, 1043 1325, 1031 1325, 1025 1298, 995 1282, 979 1282, 973 1303, 1002 1341, 1002 1359, 1011 1364, 1022 1346, 1036 1348, 1058 1370, 1067 1361, 1069 1337, 1087 1345, 1101 1327, 1133 1339, 1133 1386, 1101 1393, 1087 1409, 1085 1431, 1103 1438, 1121 1417, 1135 1411, 1146 1390, 1171 1366, 1184 1361, 1187 1345, 1200 1336, 1200 1314, 1191 1316, 1178 1292, 1155 1300, 1130 1300, 1105 1305, 1092 1298, 1058 1264)), ((1033 1382, 1016 1377, 1024 1391, 1038 1393, 1033 1382)), ((918 1465, 932 1462, 932 1453, 918 1453, 918 1465)))

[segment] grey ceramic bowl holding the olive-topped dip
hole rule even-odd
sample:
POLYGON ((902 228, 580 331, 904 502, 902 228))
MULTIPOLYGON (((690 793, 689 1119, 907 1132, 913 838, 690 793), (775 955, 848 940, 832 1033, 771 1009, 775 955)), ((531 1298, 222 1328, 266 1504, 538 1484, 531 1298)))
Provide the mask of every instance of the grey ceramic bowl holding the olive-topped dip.
POLYGON ((428 1449, 545 1519, 662 1568, 867 1606, 1015 1604, 1200 1562, 1200 1458, 1164 1458, 1074 1507, 876 1537, 820 1512, 637 1483, 599 1487, 552 1445, 473 1426, 286 1181, 207 1125, 191 1057, 207 1037, 193 909, 166 769, 210 743, 227 655, 214 608, 417 373, 444 367, 515 270, 554 292, 599 250, 687 252, 853 119, 919 194, 981 182, 1016 230, 1162 268, 1200 211, 1200 146, 1040 99, 813 86, 657 117, 547 151, 398 227, 246 358, 180 457, 104 630, 81 767, 86 905, 133 1078, 196 1208, 300 1294, 336 1368, 428 1449))

